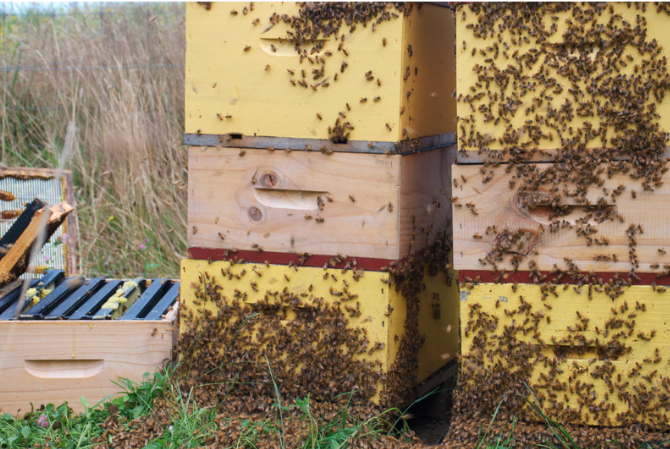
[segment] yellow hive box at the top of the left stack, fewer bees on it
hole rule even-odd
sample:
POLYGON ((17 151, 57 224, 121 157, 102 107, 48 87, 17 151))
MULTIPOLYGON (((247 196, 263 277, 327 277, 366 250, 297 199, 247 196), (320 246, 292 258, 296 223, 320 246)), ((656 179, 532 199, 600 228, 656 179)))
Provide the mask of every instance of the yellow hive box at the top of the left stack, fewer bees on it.
MULTIPOLYGON (((343 23, 338 39, 322 33, 302 44, 301 58, 280 19, 298 15, 298 3, 187 4, 186 143, 216 142, 199 139, 205 135, 249 138, 248 146, 263 136, 327 140, 338 119, 351 128, 349 145, 333 145, 335 151, 350 151, 358 141, 361 151, 384 152, 387 147, 367 142, 454 132, 452 11, 406 6, 408 15, 389 6, 397 18, 374 27, 376 19, 353 32, 343 23), (322 47, 311 52, 317 43, 322 47), (313 73, 322 68, 322 76, 313 73)), ((291 142, 267 146, 280 145, 291 142)))

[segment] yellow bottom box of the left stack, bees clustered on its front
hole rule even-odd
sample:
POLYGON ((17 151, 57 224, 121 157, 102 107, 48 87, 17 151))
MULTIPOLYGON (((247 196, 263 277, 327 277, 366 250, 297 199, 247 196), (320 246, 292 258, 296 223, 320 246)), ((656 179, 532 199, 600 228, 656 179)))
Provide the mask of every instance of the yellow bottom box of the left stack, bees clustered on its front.
MULTIPOLYGON (((323 378, 329 385, 325 388, 346 388, 344 384, 339 385, 344 382, 343 379, 355 378, 363 373, 354 372, 352 366, 355 366, 355 362, 352 361, 331 366, 333 361, 315 356, 312 347, 316 350, 323 349, 320 345, 332 345, 332 338, 337 336, 334 334, 350 332, 353 336, 365 335, 367 347, 364 352, 354 352, 354 347, 344 348, 348 342, 342 343, 342 351, 355 354, 353 358, 357 361, 369 362, 373 371, 381 374, 379 383, 372 385, 374 394, 367 399, 379 402, 380 397, 385 397, 386 402, 393 401, 396 392, 390 390, 411 390, 418 382, 438 372, 455 358, 458 349, 458 293, 456 283, 448 284, 443 273, 431 276, 421 268, 418 270, 418 281, 425 287, 421 290, 418 283, 416 294, 412 293, 415 295, 413 299, 408 300, 396 291, 395 286, 389 286, 388 279, 389 274, 385 272, 344 272, 332 268, 234 264, 224 261, 209 263, 183 259, 180 344, 186 344, 184 335, 187 333, 191 336, 208 335, 210 340, 216 338, 219 341, 215 352, 225 356, 225 351, 218 349, 225 345, 224 336, 212 335, 211 330, 207 329, 207 323, 217 323, 222 320, 221 314, 248 306, 249 310, 244 316, 241 313, 237 316, 237 312, 233 312, 235 319, 242 320, 240 327, 230 327, 234 337, 243 340, 245 347, 248 345, 245 357, 265 364, 264 354, 274 354, 268 356, 268 363, 276 370, 275 376, 278 378, 288 375, 281 370, 299 372, 311 370, 314 366, 328 366, 329 369, 317 370, 315 378, 303 379, 308 385, 286 386, 297 390, 308 388, 307 391, 296 391, 295 394, 304 395, 311 391, 314 397, 323 394, 323 391, 318 391, 318 382, 323 378), (223 299, 214 301, 213 297, 209 297, 203 300, 196 292, 207 286, 213 287, 223 299), (277 298, 282 295, 289 295, 290 300, 278 306, 266 304, 268 298, 273 304, 280 304, 277 298), (260 307, 261 304, 265 304, 265 308, 260 307), (339 318, 330 321, 324 318, 327 313, 325 310, 329 307, 342 309, 339 318), (296 327, 300 314, 315 308, 319 308, 319 313, 310 318, 309 322, 303 322, 302 327, 296 327), (408 309, 414 312, 408 314, 408 309), (206 316, 202 322, 205 324, 197 324, 194 329, 196 321, 189 318, 192 312, 195 316, 206 316), (274 319, 280 321, 272 321, 274 319), (254 320, 261 320, 259 327, 252 328, 255 329, 255 335, 247 335, 246 331, 240 330, 245 323, 254 320), (280 328, 272 331, 273 322, 280 323, 280 328), (411 331, 407 331, 407 328, 411 328, 411 331), (320 336, 310 341, 314 333, 320 336), (411 340, 415 334, 424 335, 425 342, 417 344, 416 340, 411 340), (263 343, 258 343, 261 338, 264 338, 263 343), (303 340, 308 342, 301 346, 303 340), (292 356, 298 357, 296 365, 284 366, 291 365, 292 356)), ((186 358, 187 363, 193 363, 194 358, 202 358, 197 352, 187 352, 190 355, 182 354, 182 361, 186 358)), ((244 373, 239 376, 245 378, 244 373)), ((209 381, 219 382, 220 379, 214 377, 209 381)), ((363 385, 367 382, 369 379, 360 378, 358 386, 365 389, 363 385)))

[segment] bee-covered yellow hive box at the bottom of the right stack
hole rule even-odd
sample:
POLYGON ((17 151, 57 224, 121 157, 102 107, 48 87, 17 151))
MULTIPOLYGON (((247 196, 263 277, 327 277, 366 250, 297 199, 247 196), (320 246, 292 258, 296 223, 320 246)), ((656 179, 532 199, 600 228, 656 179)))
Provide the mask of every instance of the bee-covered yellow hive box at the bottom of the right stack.
POLYGON ((484 396, 487 385, 499 401, 524 381, 563 424, 667 425, 665 288, 634 286, 612 299, 607 287, 561 285, 546 295, 529 284, 464 287, 459 382, 466 395, 484 396))

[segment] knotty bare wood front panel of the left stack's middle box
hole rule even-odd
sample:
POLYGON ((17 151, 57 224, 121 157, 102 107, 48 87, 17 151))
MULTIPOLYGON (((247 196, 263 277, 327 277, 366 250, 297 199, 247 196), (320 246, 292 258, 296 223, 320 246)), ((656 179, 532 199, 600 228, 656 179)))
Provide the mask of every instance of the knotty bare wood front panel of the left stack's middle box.
POLYGON ((400 161, 192 147, 188 245, 397 259, 400 161))

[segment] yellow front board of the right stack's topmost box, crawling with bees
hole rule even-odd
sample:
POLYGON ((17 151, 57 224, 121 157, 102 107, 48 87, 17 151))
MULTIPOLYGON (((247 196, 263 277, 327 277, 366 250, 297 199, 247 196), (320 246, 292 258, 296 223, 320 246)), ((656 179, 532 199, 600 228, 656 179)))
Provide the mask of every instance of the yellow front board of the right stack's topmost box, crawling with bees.
MULTIPOLYGON (((639 42, 652 42, 656 40, 661 43, 659 46, 659 60, 670 57, 670 47, 665 45, 667 43, 667 16, 664 13, 657 13, 656 7, 651 4, 645 4, 646 11, 638 8, 638 5, 627 5, 626 3, 612 3, 612 14, 606 9, 602 13, 593 15, 593 20, 583 26, 587 30, 593 27, 593 36, 600 35, 596 32, 596 27, 606 25, 612 18, 612 15, 619 15, 620 20, 613 20, 612 25, 615 28, 624 30, 626 23, 637 24, 638 20, 641 25, 639 35, 645 36, 644 40, 639 42)), ((608 4, 608 8, 609 8, 608 4)), ((510 9, 513 9, 511 6, 510 9)), ((518 26, 512 25, 516 23, 504 13, 500 14, 498 22, 501 24, 495 26, 495 30, 490 30, 486 39, 476 37, 475 32, 479 26, 479 19, 477 15, 470 10, 470 7, 464 5, 458 9, 456 13, 456 34, 458 36, 456 42, 456 59, 458 66, 457 73, 457 92, 462 96, 462 101, 458 102, 458 116, 461 118, 459 123, 458 135, 461 139, 459 141, 459 149, 471 153, 477 153, 477 142, 469 140, 471 133, 475 137, 477 134, 481 135, 483 139, 492 139, 488 144, 482 144, 486 149, 501 150, 506 146, 518 150, 528 145, 528 149, 533 150, 550 150, 559 148, 561 146, 561 138, 558 131, 547 126, 549 115, 547 114, 549 107, 559 110, 566 101, 572 103, 572 113, 567 114, 565 122, 561 122, 562 137, 564 139, 577 139, 577 130, 581 129, 586 122, 593 125, 597 129, 605 120, 598 115, 598 111, 593 111, 592 114, 581 114, 576 112, 578 102, 591 102, 591 92, 593 86, 604 86, 605 80, 608 77, 612 79, 621 79, 621 89, 626 90, 629 86, 635 85, 638 81, 635 79, 647 76, 641 73, 635 73, 636 67, 644 64, 647 59, 645 51, 640 51, 635 47, 637 40, 631 40, 626 45, 617 47, 622 56, 622 62, 615 64, 603 64, 597 67, 594 72, 586 73, 586 71, 573 70, 571 66, 572 60, 576 60, 581 54, 586 58, 591 58, 593 61, 604 62, 615 60, 610 55, 598 55, 599 50, 610 50, 607 47, 601 47, 603 43, 611 45, 612 40, 605 37, 603 34, 602 41, 594 42, 591 40, 584 40, 580 45, 566 41, 568 37, 574 36, 573 32, 568 31, 568 23, 577 24, 579 19, 576 17, 591 17, 587 14, 591 6, 578 6, 575 4, 574 8, 567 11, 554 11, 547 8, 547 13, 538 19, 544 26, 545 30, 550 30, 555 27, 555 31, 544 40, 539 38, 539 33, 530 36, 527 32, 516 33, 518 26), (582 9, 578 11, 577 8, 582 9), (574 16, 573 16, 574 14, 574 16), (553 19, 555 18, 555 19, 553 19), (509 26, 502 26, 506 22, 509 26), (515 32, 512 34, 510 31, 515 32), (523 36, 525 34, 525 36, 523 36), (524 40, 527 39, 527 40, 524 40), (565 44, 565 45, 564 45, 565 44), (498 50, 494 49, 497 48, 498 50), (573 48, 572 53, 566 54, 566 48, 569 50, 573 48), (538 52, 535 54, 535 52, 538 52), (520 56, 515 58, 515 54, 520 56), (630 59, 628 59, 630 56, 630 59), (495 68, 494 68, 495 67, 495 68), (609 72, 609 73, 607 73, 609 72), (506 76, 509 78, 504 79, 506 76), (485 79, 488 77, 487 79, 485 79), (557 85, 561 86, 561 91, 555 90, 552 85, 546 91, 544 80, 554 78, 557 85), (526 81, 528 80, 528 83, 526 81), (573 83, 574 81, 574 83, 573 83), (593 85, 592 85, 593 83, 593 85), (478 85, 479 84, 479 85, 478 85), (502 87, 501 87, 502 86, 502 87), (570 92, 570 89, 577 89, 579 92, 570 92), (483 93, 483 96, 478 99, 472 99, 478 93, 483 93), (470 99, 466 99, 470 96, 470 99), (542 98, 542 104, 533 108, 533 103, 538 98, 542 98), (472 99, 472 101, 470 101, 472 99), (513 116, 507 116, 509 122, 505 120, 496 121, 501 116, 500 110, 516 109, 513 116), (531 110, 529 110, 531 108, 531 110), (492 118, 485 119, 487 111, 491 111, 492 118), (528 113, 526 111, 529 110, 528 113), (537 116, 539 116, 539 119, 537 116), (464 119, 473 118, 471 123, 465 123, 464 119), (526 131, 526 125, 532 125, 532 132, 526 131), (463 127, 461 128, 460 125, 463 127), (564 126, 563 126, 564 125, 564 126), (513 130, 520 132, 519 141, 514 144, 501 143, 506 131, 513 130), (552 138, 542 137, 539 141, 534 140, 535 135, 543 133, 545 136, 551 134, 552 138), (532 135, 531 135, 532 134, 532 135)), ((528 19, 530 21, 530 19, 528 19)), ((535 26, 536 18, 533 17, 533 26, 535 26)), ((524 29, 530 31, 533 27, 526 28, 525 21, 524 29)), ((606 29, 606 27, 603 27, 606 29)), ((622 31, 625 34, 625 31, 622 31)), ((638 33, 638 32, 636 32, 638 33)), ((647 45, 647 44, 645 44, 647 45)), ((659 75, 663 78, 664 75, 659 75)), ((620 88, 616 88, 617 90, 620 88)), ((644 87, 640 86, 640 89, 644 87)), ((573 91, 576 92, 576 91, 573 91)), ((621 93, 619 95, 622 95, 621 93)), ((634 94, 637 97, 637 94, 634 94)), ((647 101, 647 104, 655 102, 652 99, 647 101)), ((612 101, 609 95, 599 95, 593 99, 594 103, 598 104, 616 104, 612 101)), ((670 128, 670 100, 668 96, 656 104, 655 113, 659 115, 658 123, 661 130, 670 128)), ((616 107, 616 106, 615 106, 616 107)), ((606 109, 603 108, 603 109, 606 109)), ((623 111, 622 111, 623 112, 623 111)), ((627 130, 630 131, 630 130, 627 130)), ((615 134, 614 126, 610 125, 607 131, 607 138, 613 137, 615 134)), ((480 139, 476 138, 475 141, 480 139)), ((610 141, 605 144, 611 145, 610 141)), ((594 138, 586 144, 587 148, 602 147, 603 143, 599 138, 594 138)), ((543 159, 544 155, 540 155, 543 159)), ((463 162, 485 159, 485 156, 473 154, 470 158, 464 158, 463 162)), ((535 156, 532 160, 538 160, 535 156)))

